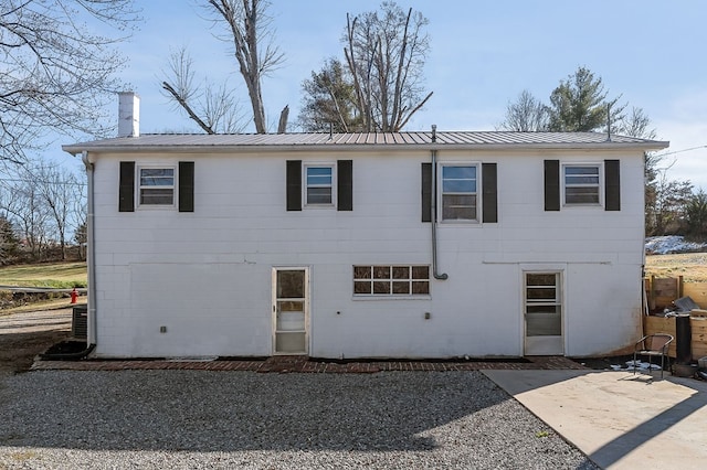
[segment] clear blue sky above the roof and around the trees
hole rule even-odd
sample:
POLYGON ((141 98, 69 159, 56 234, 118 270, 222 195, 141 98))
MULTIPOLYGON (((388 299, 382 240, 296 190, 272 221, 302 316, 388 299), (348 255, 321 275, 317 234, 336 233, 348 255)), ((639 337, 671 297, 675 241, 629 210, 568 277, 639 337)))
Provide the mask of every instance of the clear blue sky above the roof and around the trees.
MULTIPOLYGON (((205 3, 205 0, 199 0, 205 3)), ((187 46, 197 70, 230 79, 250 109, 226 44, 213 38, 198 0, 137 0, 144 23, 120 45, 129 64, 122 78, 141 98, 143 132, 198 131, 160 94, 170 51, 187 46)), ((609 96, 622 95, 669 140, 671 179, 707 190, 707 2, 701 0, 437 0, 398 1, 429 20, 424 75, 434 92, 408 130, 493 130, 523 89, 547 102, 579 66, 601 76, 609 96), (695 150, 687 150, 699 147, 695 150)), ((346 13, 378 10, 370 0, 272 0, 275 43, 285 64, 264 79, 268 126, 289 105, 299 109, 302 82, 326 57, 341 57, 346 13)), ((116 98, 117 103, 117 98, 116 98)), ((117 107, 117 105, 116 105, 117 107)))

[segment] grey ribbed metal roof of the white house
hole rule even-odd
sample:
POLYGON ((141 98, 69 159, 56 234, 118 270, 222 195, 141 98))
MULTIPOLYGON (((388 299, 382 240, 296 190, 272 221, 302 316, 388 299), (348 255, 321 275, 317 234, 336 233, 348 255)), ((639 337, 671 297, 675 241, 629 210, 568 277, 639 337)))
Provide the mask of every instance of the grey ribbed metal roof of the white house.
POLYGON ((634 148, 658 150, 669 142, 609 136, 600 132, 511 132, 439 131, 355 132, 355 133, 155 133, 73 143, 62 148, 70 153, 89 152, 252 152, 285 150, 367 150, 367 149, 589 149, 634 148))

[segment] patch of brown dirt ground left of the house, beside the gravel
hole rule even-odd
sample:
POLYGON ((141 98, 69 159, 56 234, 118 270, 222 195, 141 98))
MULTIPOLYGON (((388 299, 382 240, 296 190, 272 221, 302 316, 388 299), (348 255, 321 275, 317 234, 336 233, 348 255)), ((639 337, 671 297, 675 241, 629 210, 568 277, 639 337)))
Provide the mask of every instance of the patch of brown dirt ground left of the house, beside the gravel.
POLYGON ((34 357, 71 335, 72 309, 0 314, 0 374, 27 372, 34 357))

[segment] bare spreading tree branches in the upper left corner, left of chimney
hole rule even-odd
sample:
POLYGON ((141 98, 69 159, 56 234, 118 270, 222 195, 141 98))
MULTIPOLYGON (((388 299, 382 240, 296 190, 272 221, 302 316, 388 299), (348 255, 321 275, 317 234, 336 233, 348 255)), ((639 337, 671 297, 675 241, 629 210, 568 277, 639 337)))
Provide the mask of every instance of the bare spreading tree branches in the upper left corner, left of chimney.
POLYGON ((124 60, 113 45, 135 24, 133 0, 0 2, 0 161, 23 161, 52 131, 105 135, 105 103, 124 60), (86 20, 99 22, 92 33, 86 20))

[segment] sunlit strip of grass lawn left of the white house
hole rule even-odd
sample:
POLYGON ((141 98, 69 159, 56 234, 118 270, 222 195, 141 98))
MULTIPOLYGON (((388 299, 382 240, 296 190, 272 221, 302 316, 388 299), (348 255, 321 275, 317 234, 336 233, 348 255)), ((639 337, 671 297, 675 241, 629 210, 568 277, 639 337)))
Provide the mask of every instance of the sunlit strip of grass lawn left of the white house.
POLYGON ((88 284, 86 263, 52 263, 0 267, 0 285, 71 289, 88 284))

